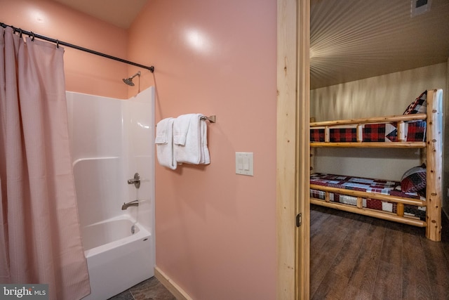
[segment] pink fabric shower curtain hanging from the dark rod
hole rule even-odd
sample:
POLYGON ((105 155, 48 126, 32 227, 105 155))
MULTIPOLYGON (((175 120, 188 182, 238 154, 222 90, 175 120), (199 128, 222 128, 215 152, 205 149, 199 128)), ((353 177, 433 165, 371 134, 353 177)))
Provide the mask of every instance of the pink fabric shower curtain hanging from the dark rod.
POLYGON ((0 27, 0 283, 90 293, 69 153, 64 50, 0 27))

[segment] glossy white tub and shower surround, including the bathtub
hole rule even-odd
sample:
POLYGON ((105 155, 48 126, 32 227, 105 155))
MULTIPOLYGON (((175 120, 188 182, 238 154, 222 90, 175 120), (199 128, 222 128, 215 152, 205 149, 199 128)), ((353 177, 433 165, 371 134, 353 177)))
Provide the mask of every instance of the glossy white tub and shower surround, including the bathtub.
POLYGON ((67 104, 92 289, 83 300, 107 299, 154 275, 154 89, 128 100, 67 92, 67 104))

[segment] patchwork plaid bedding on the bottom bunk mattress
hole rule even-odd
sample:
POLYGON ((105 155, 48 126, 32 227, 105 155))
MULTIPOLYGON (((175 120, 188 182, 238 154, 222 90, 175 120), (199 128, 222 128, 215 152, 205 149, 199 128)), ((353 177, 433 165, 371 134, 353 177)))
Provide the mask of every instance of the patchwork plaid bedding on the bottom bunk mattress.
MULTIPOLYGON (((396 195, 400 197, 408 197, 414 199, 420 199, 417 193, 402 193, 398 188, 401 186, 400 182, 397 181, 385 181, 382 179, 371 179, 371 178, 359 178, 351 176, 339 176, 333 174, 322 174, 316 173, 311 174, 310 183, 316 185, 323 185, 332 188, 344 188, 347 190, 360 190, 368 193, 381 193, 384 195, 396 195)), ((324 200, 325 192, 321 190, 310 190, 310 197, 324 200)), ((335 193, 329 194, 331 202, 338 202, 342 204, 357 205, 357 197, 340 195, 335 193)), ((369 198, 363 198, 363 207, 369 209, 377 209, 380 211, 389 211, 396 214, 395 202, 388 202, 382 200, 375 200, 369 198)), ((426 208, 416 207, 414 205, 404 205, 404 215, 406 216, 416 216, 421 220, 426 219, 426 208)))

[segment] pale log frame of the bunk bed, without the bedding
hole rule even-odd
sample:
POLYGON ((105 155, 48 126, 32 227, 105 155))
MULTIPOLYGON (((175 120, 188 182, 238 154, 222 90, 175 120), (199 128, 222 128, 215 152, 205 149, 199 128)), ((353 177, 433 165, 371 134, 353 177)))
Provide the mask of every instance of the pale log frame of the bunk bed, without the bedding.
POLYGON ((424 150, 422 158, 426 159, 427 164, 427 187, 426 200, 418 200, 406 197, 392 195, 383 195, 380 193, 368 193, 357 190, 345 190, 342 188, 330 188, 322 185, 310 185, 311 189, 322 190, 325 192, 325 200, 319 200, 311 197, 310 203, 324 207, 332 207, 344 211, 363 214, 388 221, 396 221, 412 226, 426 228, 426 237, 432 241, 441 241, 441 193, 442 193, 442 151, 443 151, 443 90, 434 89, 427 91, 427 113, 415 115, 395 115, 389 117, 372 117, 367 119, 347 119, 330 122, 311 122, 310 128, 324 128, 325 142, 311 142, 311 149, 319 147, 340 147, 340 148, 419 148, 424 150), (407 142, 403 131, 404 122, 410 120, 426 120, 427 132, 426 142, 407 142), (390 123, 397 122, 398 141, 397 142, 362 142, 363 130, 362 124, 372 123, 390 123), (331 143, 329 141, 330 128, 342 125, 356 126, 357 142, 350 143, 331 143), (349 195, 357 197, 357 205, 341 204, 330 202, 330 193, 349 195), (377 211, 362 207, 363 198, 383 200, 397 203, 396 214, 387 211, 377 211), (426 221, 404 215, 404 204, 426 207, 426 221))

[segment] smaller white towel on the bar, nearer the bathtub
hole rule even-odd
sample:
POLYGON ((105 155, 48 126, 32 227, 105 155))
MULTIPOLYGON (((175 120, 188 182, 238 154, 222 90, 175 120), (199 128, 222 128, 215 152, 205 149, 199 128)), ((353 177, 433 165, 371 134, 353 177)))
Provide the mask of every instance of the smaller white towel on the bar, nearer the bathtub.
POLYGON ((154 143, 157 149, 157 160, 163 167, 172 170, 176 169, 177 164, 173 155, 173 122, 174 118, 161 119, 156 125, 156 138, 154 143))

